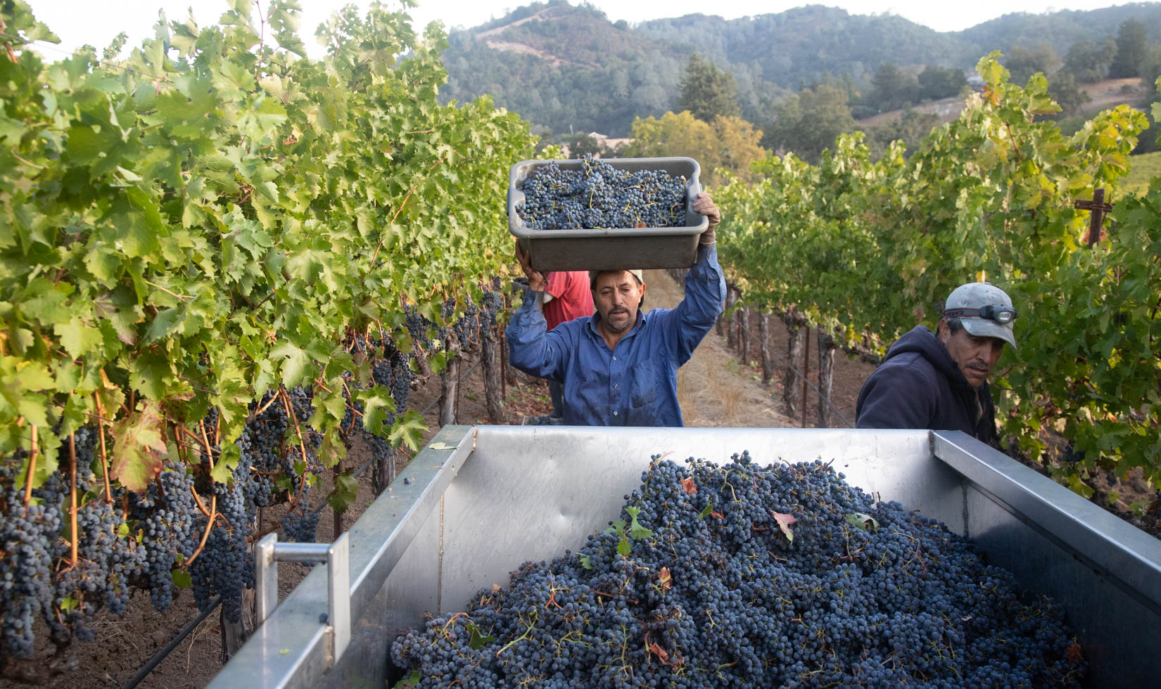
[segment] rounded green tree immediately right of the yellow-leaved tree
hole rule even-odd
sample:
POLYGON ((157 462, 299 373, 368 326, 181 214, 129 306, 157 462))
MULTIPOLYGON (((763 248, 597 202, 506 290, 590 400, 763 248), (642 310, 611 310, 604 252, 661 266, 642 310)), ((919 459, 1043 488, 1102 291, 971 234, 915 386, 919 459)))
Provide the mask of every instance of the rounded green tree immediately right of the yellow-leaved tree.
POLYGON ((825 84, 806 88, 783 101, 774 122, 764 128, 762 145, 773 151, 793 151, 802 160, 817 162, 824 148, 841 133, 854 131, 854 117, 846 92, 825 84))

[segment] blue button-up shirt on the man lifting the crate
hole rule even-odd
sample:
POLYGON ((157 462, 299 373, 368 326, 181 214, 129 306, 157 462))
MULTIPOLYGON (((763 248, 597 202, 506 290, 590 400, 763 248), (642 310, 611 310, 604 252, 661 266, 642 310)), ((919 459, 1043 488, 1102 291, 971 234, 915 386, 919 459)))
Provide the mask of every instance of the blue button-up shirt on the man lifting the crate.
POLYGON ((526 298, 509 324, 509 361, 564 389, 570 426, 683 426, 677 369, 714 326, 726 300, 717 247, 698 249, 677 309, 637 313, 637 322, 610 349, 597 331, 600 314, 547 329, 540 295, 526 298))

